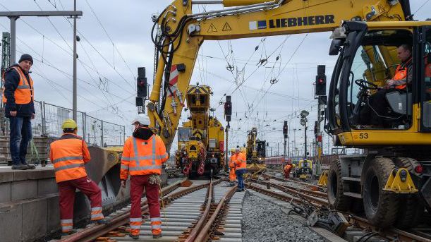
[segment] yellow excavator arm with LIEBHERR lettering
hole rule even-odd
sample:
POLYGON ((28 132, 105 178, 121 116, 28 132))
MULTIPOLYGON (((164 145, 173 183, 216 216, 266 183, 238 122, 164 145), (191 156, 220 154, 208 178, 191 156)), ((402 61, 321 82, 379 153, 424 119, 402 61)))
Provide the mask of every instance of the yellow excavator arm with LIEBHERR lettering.
POLYGON ((332 31, 341 20, 411 18, 406 0, 224 0, 211 3, 233 7, 193 13, 194 4, 209 2, 176 0, 154 19, 152 40, 159 59, 147 111, 167 150, 204 40, 332 31))

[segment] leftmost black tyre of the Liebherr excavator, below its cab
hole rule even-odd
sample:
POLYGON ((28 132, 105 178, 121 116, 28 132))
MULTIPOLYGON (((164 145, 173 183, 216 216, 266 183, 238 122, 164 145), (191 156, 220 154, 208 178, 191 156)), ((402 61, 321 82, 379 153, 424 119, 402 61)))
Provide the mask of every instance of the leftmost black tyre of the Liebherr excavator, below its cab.
POLYGON ((335 210, 347 211, 351 207, 351 198, 343 194, 341 181, 341 163, 339 159, 331 162, 328 174, 328 201, 335 210))

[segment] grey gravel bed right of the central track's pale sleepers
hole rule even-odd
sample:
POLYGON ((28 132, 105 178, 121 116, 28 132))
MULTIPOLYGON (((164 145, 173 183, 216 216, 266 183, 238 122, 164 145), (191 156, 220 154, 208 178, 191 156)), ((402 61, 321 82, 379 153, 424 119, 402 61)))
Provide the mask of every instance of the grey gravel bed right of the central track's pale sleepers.
POLYGON ((243 241, 323 242, 324 239, 277 205, 247 192, 243 202, 243 241))

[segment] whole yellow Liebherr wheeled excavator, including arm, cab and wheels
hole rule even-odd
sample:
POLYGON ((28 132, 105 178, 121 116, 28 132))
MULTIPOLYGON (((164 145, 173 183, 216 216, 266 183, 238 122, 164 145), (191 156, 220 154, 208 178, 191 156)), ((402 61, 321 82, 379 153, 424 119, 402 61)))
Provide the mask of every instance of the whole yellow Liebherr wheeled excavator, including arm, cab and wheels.
POLYGON ((330 80, 325 128, 334 145, 363 148, 365 155, 332 162, 329 203, 337 210, 363 205, 376 226, 414 226, 431 205, 431 83, 424 71, 431 22, 411 20, 408 0, 173 1, 154 18, 152 40, 159 59, 147 105, 151 126, 169 150, 179 103, 205 40, 332 31, 329 54, 339 58, 330 80), (195 13, 192 6, 198 4, 219 4, 220 9, 195 13), (410 87, 387 97, 387 127, 362 126, 355 116, 394 76, 401 44, 413 47, 410 87))

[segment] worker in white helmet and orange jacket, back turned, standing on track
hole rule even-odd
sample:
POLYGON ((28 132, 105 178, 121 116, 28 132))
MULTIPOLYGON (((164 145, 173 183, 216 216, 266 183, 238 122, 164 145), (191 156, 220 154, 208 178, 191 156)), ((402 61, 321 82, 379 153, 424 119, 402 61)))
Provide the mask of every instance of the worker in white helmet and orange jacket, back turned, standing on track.
POLYGON ((153 238, 162 237, 162 220, 160 219, 159 186, 162 164, 168 159, 166 147, 158 135, 148 126, 150 119, 145 114, 138 114, 132 124, 135 126, 133 136, 124 143, 121 157, 121 186, 126 187, 130 174, 130 237, 139 238, 142 214, 140 199, 145 188, 148 208, 150 210, 151 231, 153 238))

